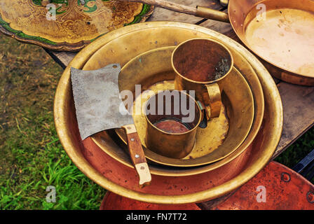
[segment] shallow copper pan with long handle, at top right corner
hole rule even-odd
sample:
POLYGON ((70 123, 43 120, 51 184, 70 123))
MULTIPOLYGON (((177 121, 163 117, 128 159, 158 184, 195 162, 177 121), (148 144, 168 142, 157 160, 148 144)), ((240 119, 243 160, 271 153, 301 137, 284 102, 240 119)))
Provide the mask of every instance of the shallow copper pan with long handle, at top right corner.
POLYGON ((314 85, 313 0, 221 0, 222 5, 229 2, 228 14, 169 1, 139 2, 231 22, 235 34, 260 57, 275 78, 297 85, 314 85))

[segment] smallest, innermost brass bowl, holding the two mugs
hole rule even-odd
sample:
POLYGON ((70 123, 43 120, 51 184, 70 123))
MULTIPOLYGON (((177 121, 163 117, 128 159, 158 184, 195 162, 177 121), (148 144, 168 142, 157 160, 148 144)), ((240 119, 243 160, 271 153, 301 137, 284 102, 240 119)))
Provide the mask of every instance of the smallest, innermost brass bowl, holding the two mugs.
MULTIPOLYGON (((120 90, 130 90, 135 95, 135 85, 141 85, 142 91, 175 89, 175 72, 172 70, 171 55, 175 47, 165 47, 144 52, 131 59, 123 66, 119 76, 120 90)), ((254 118, 254 99, 250 86, 238 69, 233 68, 231 73, 219 82, 222 91, 223 104, 219 118, 210 120, 207 128, 198 128, 196 145, 193 151, 182 160, 167 158, 146 148, 146 119, 144 113, 133 118, 137 133, 144 146, 146 158, 162 165, 174 167, 195 167, 216 162, 235 151, 249 134, 254 118), (228 116, 227 116, 228 115, 228 116)), ((134 105, 144 106, 147 98, 140 94, 134 105)), ((121 129, 117 134, 126 143, 125 133, 121 129)), ((97 146, 106 153, 112 151, 102 144, 102 132, 94 135, 97 146)), ((112 153, 110 153, 112 154, 112 153)), ((115 158, 118 160, 118 158, 115 158)), ((132 164, 128 164, 132 166, 132 164)))

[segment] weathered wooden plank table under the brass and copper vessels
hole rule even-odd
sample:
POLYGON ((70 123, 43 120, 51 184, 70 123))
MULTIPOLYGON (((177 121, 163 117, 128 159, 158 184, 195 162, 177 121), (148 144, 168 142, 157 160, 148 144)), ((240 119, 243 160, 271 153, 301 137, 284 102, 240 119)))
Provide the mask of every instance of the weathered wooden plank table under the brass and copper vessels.
MULTIPOLYGON (((172 2, 184 3, 187 6, 207 6, 217 10, 224 10, 226 8, 220 6, 218 0, 171 0, 172 2)), ((219 31, 226 36, 233 38, 240 42, 235 35, 230 24, 224 22, 216 22, 213 20, 205 20, 197 18, 192 15, 182 13, 175 13, 163 8, 155 8, 153 15, 148 21, 176 21, 187 22, 191 24, 200 25, 219 31)), ((54 52, 46 50, 48 54, 55 59, 55 61, 65 68, 71 59, 76 55, 75 52, 54 52)), ((314 125, 314 87, 303 87, 299 85, 292 85, 289 83, 275 80, 277 83, 282 104, 284 109, 284 126, 282 137, 278 148, 273 155, 273 159, 290 146, 296 139, 298 139, 304 132, 314 125)), ((279 131, 279 130, 278 130, 279 131)), ((203 208, 208 208, 208 204, 203 204, 203 208)))

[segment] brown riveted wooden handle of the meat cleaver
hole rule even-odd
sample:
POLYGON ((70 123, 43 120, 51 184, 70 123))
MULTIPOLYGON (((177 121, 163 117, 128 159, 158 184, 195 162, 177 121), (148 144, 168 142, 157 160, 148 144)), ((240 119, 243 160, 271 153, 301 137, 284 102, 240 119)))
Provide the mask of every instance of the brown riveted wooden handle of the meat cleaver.
POLYGON ((146 162, 142 143, 139 140, 135 125, 125 125, 123 128, 125 129, 128 139, 128 149, 131 160, 139 175, 139 187, 144 188, 144 186, 148 186, 151 183, 151 172, 149 172, 149 166, 146 162))

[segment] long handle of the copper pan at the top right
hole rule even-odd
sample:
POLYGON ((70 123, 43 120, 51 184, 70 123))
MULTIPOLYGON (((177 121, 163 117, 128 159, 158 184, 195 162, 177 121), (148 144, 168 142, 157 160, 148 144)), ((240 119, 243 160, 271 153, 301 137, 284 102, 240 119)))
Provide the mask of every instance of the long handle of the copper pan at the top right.
MULTIPOLYGON (((186 13, 189 15, 195 15, 197 17, 206 18, 210 20, 217 20, 221 22, 229 22, 229 17, 227 13, 221 12, 219 10, 214 10, 212 8, 206 8, 202 6, 197 6, 196 8, 191 6, 184 6, 182 4, 173 3, 164 0, 121 0, 121 1, 136 1, 140 3, 146 3, 152 6, 157 6, 160 8, 165 8, 178 13, 186 13)), ((228 3, 228 0, 221 0, 221 4, 228 3)))

